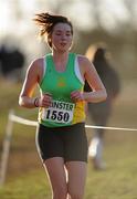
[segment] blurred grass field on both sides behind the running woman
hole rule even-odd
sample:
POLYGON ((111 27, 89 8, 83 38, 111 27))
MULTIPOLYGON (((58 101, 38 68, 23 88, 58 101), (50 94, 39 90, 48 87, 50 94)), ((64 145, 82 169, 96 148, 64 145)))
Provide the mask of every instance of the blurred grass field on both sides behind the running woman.
MULTIPOLYGON (((8 113, 36 119, 36 111, 18 106, 20 84, 0 82, 0 155, 8 113)), ((109 126, 137 128, 136 85, 124 86, 109 126)), ((88 140, 92 130, 87 129, 88 140)), ((106 130, 104 158, 107 169, 95 171, 88 160, 85 199, 137 199, 137 132, 106 130)), ((14 124, 6 185, 0 199, 51 199, 46 175, 35 148, 35 127, 14 124)))

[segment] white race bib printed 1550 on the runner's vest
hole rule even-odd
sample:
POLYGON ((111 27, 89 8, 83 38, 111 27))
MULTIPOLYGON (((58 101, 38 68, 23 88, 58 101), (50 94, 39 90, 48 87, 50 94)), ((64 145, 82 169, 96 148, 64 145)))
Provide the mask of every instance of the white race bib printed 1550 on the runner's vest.
POLYGON ((52 101, 49 108, 43 108, 42 119, 67 124, 73 119, 74 107, 73 103, 52 101))

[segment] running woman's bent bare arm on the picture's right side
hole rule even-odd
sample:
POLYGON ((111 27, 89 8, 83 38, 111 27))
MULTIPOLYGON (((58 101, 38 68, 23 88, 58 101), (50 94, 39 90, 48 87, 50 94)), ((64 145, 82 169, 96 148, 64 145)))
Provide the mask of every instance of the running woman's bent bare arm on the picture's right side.
POLYGON ((80 56, 78 63, 83 80, 86 80, 88 82, 92 92, 81 93, 80 91, 74 91, 72 92, 71 97, 74 101, 84 100, 92 103, 105 101, 107 97, 106 88, 103 85, 94 65, 85 56, 80 56))

